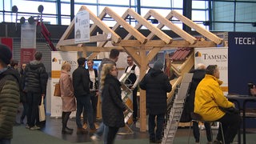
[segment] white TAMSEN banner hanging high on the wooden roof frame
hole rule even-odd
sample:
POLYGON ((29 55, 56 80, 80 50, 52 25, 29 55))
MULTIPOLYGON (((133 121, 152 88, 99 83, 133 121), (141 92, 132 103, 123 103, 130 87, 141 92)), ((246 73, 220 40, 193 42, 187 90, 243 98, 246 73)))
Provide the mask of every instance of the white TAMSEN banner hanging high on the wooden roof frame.
POLYGON ((90 15, 86 10, 79 11, 74 22, 74 43, 90 42, 90 15))

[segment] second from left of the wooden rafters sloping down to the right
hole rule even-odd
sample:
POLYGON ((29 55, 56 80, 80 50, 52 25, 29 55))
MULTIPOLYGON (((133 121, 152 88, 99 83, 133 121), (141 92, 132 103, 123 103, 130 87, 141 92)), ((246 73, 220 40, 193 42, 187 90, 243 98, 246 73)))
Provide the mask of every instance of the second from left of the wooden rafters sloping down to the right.
POLYGON ((146 37, 138 32, 138 30, 134 29, 133 26, 130 26, 130 24, 122 19, 118 14, 116 14, 114 10, 111 10, 109 7, 105 7, 104 11, 106 12, 106 14, 109 14, 110 17, 113 18, 116 22, 118 22, 118 24, 121 25, 125 30, 132 34, 134 38, 137 38, 139 42, 146 42, 146 37))

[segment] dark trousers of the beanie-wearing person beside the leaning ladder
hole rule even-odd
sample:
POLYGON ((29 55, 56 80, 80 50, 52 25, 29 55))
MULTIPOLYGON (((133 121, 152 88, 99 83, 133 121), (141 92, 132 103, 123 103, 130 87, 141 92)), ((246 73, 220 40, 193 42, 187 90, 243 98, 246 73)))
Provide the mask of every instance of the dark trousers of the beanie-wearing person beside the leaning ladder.
POLYGON ((165 114, 149 114, 149 134, 150 140, 161 140, 162 139, 162 129, 165 120, 165 114), (155 117, 157 117, 157 130, 154 132, 154 127, 156 126, 155 117))

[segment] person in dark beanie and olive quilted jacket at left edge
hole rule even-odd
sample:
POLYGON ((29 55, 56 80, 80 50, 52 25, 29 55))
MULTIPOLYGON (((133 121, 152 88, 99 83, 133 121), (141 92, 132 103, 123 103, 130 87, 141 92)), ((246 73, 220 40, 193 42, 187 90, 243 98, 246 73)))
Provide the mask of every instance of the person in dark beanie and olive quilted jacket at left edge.
POLYGON ((12 54, 0 44, 0 143, 10 143, 19 104, 19 74, 7 65, 12 54))

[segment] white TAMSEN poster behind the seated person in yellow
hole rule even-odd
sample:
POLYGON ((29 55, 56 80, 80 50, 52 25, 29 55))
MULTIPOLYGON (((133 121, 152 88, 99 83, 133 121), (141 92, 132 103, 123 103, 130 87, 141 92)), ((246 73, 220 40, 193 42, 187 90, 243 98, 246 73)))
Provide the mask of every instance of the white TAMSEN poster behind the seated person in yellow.
POLYGON ((195 48, 194 66, 203 63, 206 66, 217 65, 220 73, 223 93, 228 94, 228 50, 227 47, 195 48))

